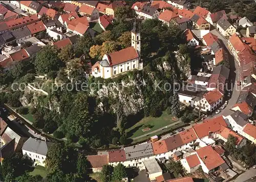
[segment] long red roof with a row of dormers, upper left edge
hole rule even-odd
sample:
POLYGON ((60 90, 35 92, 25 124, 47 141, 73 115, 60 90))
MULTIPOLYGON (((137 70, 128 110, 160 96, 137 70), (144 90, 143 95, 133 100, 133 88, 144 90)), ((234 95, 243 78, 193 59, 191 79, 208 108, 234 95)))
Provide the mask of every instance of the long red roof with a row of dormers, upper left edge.
POLYGON ((24 16, 18 19, 9 20, 0 24, 1 31, 14 29, 16 27, 22 27, 24 25, 31 24, 31 22, 35 22, 38 20, 39 19, 36 14, 30 15, 30 16, 24 16))

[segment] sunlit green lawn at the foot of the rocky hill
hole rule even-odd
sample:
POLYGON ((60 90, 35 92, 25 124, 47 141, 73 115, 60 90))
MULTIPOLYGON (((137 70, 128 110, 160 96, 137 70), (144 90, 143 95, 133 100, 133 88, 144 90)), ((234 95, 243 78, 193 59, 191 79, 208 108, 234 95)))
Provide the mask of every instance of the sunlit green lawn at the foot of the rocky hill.
POLYGON ((162 128, 164 126, 176 122, 172 120, 172 117, 172 115, 168 115, 166 111, 163 111, 162 115, 159 118, 145 117, 132 127, 126 129, 125 131, 129 138, 139 137, 142 134, 152 132, 156 129, 162 128), (143 125, 152 125, 153 127, 150 130, 143 132, 142 129, 145 128, 143 127, 143 125))

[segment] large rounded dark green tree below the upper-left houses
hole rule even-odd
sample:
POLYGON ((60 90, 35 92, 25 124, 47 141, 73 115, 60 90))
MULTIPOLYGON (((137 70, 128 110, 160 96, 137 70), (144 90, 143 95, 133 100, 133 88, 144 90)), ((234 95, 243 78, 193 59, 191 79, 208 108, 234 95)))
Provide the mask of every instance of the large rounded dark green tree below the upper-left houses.
POLYGON ((58 71, 61 65, 57 50, 51 45, 45 46, 36 54, 35 67, 39 74, 58 71))

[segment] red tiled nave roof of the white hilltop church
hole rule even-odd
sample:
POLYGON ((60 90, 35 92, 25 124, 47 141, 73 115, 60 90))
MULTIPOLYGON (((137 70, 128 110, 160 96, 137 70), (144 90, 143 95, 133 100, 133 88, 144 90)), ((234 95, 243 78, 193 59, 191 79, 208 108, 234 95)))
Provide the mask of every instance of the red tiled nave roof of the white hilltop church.
POLYGON ((111 66, 139 57, 139 55, 138 55, 137 51, 134 49, 134 47, 125 48, 120 51, 110 53, 110 54, 108 54, 108 56, 110 58, 111 66))

